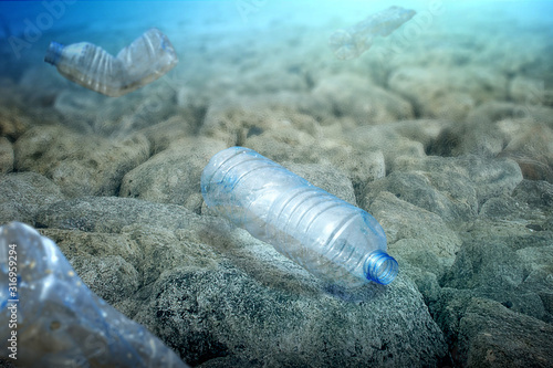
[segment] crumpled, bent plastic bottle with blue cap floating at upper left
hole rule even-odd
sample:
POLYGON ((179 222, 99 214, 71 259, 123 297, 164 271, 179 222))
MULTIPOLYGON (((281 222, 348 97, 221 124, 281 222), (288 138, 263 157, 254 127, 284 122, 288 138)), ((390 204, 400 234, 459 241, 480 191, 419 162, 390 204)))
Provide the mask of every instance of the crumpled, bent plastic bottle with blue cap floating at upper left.
POLYGON ((178 63, 178 57, 169 39, 153 28, 116 57, 88 42, 66 46, 51 42, 44 61, 72 82, 118 97, 159 78, 178 63))

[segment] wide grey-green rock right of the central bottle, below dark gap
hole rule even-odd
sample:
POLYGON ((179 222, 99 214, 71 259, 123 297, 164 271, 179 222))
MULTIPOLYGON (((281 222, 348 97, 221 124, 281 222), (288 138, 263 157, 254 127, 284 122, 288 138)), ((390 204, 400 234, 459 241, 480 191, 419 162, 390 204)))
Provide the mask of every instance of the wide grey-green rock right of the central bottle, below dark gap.
POLYGON ((510 194, 522 181, 519 166, 510 159, 401 157, 395 166, 388 177, 366 186, 365 202, 387 190, 448 223, 470 220, 486 200, 510 194))

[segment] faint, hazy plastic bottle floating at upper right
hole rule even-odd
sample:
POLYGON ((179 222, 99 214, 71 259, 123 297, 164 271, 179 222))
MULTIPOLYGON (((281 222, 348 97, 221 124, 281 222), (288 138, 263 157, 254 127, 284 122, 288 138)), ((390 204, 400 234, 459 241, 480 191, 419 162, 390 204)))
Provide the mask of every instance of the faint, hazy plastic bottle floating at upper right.
POLYGON ((415 10, 389 7, 365 20, 331 34, 328 44, 337 59, 349 60, 371 49, 376 36, 387 36, 415 15, 415 10))

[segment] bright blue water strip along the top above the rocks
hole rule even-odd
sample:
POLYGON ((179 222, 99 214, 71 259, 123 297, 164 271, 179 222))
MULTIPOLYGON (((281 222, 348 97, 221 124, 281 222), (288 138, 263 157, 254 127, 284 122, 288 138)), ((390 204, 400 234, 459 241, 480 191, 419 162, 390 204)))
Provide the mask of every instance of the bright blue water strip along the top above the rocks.
MULTIPOLYGON (((242 38, 272 30, 264 42, 278 40, 294 25, 348 27, 390 4, 414 9, 420 28, 439 32, 469 31, 479 36, 495 32, 550 32, 553 1, 1 1, 2 72, 18 74, 18 65, 39 63, 48 43, 90 41, 111 52, 128 44, 145 29, 157 27, 178 45, 200 34, 242 38)), ((267 36, 267 35, 265 35, 267 36)), ((320 34, 321 40, 327 34, 320 34)), ((314 39, 313 42, 320 40, 314 39)), ((490 40, 492 42, 493 40, 490 40)))

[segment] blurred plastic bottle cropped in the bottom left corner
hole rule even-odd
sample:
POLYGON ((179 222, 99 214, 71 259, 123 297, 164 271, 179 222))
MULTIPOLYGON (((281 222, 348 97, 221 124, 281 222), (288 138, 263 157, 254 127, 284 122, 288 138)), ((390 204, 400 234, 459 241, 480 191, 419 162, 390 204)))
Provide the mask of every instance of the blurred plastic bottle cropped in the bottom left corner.
POLYGON ((0 227, 0 357, 18 367, 188 367, 91 292, 52 240, 20 222, 0 227))

